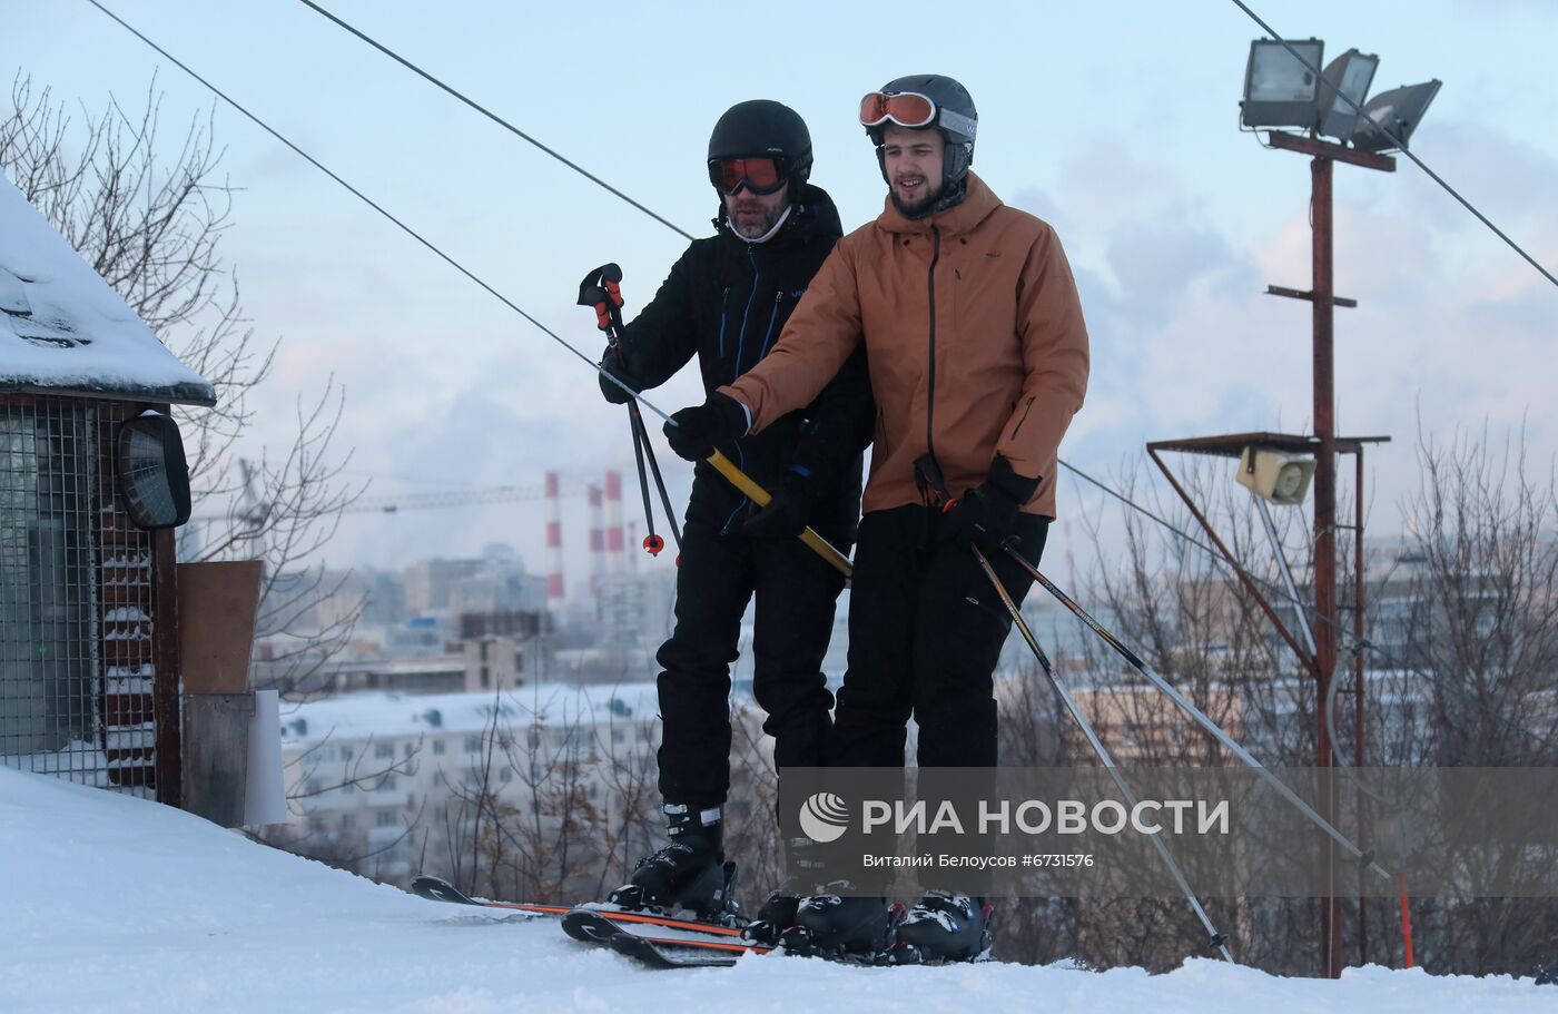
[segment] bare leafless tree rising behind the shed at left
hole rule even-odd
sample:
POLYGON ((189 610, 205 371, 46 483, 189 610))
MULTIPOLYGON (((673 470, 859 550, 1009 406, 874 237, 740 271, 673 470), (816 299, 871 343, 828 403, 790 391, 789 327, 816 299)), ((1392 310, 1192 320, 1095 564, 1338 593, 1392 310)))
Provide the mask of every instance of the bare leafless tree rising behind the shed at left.
POLYGON ((357 492, 341 481, 347 455, 332 449, 343 393, 323 378, 299 397, 294 436, 280 455, 240 464, 251 431, 251 396, 266 382, 277 341, 260 341, 245 318, 237 269, 223 240, 237 188, 223 174, 212 112, 196 112, 173 134, 162 125, 157 83, 142 103, 109 97, 100 112, 75 112, 19 73, 0 115, 0 168, 22 195, 103 276, 168 349, 217 389, 213 408, 174 408, 201 545, 185 559, 262 559, 263 631, 294 634, 291 690, 338 651, 351 620, 313 626, 313 604, 335 587, 307 570, 357 492))

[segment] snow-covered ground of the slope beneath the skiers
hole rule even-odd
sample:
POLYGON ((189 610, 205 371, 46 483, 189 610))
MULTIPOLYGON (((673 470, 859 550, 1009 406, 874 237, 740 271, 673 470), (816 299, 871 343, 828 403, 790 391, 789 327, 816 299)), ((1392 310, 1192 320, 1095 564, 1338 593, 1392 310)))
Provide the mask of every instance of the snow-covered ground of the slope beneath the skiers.
POLYGON ((1349 970, 1282 980, 985 964, 851 969, 749 956, 654 972, 562 936, 249 843, 167 807, 0 768, 0 1011, 486 1014, 1045 1011, 1503 1014, 1558 1009, 1530 978, 1349 970))

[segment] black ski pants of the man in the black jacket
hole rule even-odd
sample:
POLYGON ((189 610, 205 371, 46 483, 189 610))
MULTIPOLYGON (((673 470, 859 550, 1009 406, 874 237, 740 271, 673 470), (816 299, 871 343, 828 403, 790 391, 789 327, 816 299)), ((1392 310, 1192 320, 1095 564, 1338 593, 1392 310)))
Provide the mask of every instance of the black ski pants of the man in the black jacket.
MULTIPOLYGON (((849 545, 835 547, 840 551, 849 545)), ((753 696, 774 738, 774 766, 826 762, 834 695, 823 656, 843 575, 798 539, 721 534, 687 519, 676 573, 676 626, 656 656, 662 740, 661 796, 693 808, 731 787, 731 662, 746 603, 753 618, 753 696)))

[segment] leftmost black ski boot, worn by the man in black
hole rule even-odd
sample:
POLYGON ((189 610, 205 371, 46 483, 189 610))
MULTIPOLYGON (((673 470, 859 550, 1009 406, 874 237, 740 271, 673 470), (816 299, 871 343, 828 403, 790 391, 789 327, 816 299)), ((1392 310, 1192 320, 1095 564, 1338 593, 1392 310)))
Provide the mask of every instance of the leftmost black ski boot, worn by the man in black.
POLYGON ((608 900, 629 910, 690 911, 714 922, 729 919, 735 908, 731 894, 735 863, 724 861, 720 807, 693 812, 667 804, 665 816, 671 843, 639 860, 628 883, 608 900))

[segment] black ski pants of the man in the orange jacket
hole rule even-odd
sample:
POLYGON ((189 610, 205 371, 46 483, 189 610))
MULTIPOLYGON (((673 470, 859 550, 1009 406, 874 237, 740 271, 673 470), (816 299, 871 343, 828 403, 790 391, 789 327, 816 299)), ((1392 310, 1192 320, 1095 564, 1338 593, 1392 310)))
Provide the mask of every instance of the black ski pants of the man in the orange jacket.
MULTIPOLYGON (((860 520, 849 590, 849 668, 834 715, 830 765, 901 768, 910 716, 921 768, 994 768, 996 662, 1011 615, 966 544, 925 506, 860 520)), ((1019 550, 1038 564, 1049 519, 1017 519, 1019 550)), ((1031 578, 989 558, 1014 603, 1031 578)))

